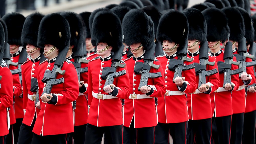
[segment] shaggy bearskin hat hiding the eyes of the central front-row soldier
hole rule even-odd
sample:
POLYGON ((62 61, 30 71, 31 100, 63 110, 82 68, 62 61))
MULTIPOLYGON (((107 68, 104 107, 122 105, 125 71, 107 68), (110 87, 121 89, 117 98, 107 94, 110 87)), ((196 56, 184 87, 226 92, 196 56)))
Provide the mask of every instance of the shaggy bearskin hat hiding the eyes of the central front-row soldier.
POLYGON ((123 35, 126 45, 141 43, 144 50, 151 49, 155 39, 153 21, 142 9, 132 9, 124 16, 123 35))

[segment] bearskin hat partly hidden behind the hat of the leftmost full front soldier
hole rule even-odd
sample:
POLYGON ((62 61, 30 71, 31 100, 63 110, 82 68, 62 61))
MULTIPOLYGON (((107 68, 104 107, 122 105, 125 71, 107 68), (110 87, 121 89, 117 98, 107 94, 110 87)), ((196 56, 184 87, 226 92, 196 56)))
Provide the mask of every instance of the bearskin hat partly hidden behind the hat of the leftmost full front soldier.
MULTIPOLYGON (((42 20, 44 15, 40 12, 35 12, 27 16, 22 33, 21 33, 21 43, 23 48, 26 48, 27 44, 31 44, 35 47, 39 47, 37 45, 37 35, 38 35, 38 29, 39 24, 42 20)), ((44 47, 39 47, 44 48, 44 47)))

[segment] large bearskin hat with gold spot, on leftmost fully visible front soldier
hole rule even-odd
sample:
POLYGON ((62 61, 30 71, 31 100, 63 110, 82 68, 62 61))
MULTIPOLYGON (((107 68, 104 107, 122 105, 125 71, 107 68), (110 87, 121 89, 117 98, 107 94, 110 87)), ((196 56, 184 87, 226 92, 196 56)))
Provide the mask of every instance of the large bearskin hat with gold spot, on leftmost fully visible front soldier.
POLYGON ((44 48, 44 45, 54 45, 60 51, 69 45, 70 28, 68 21, 58 13, 44 16, 38 30, 37 45, 44 48))

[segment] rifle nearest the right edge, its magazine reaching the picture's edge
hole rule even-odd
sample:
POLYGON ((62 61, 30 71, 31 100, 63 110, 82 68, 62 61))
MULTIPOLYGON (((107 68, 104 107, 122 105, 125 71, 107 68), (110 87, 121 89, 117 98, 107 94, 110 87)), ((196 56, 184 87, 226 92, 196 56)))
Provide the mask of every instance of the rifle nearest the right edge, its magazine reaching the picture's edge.
MULTIPOLYGON (((246 67, 251 67, 256 65, 256 61, 252 62, 246 62, 246 58, 253 59, 254 55, 249 55, 247 52, 246 48, 246 39, 243 37, 242 40, 238 43, 238 49, 237 49, 238 54, 234 54, 237 58, 237 61, 239 61, 239 68, 243 70, 243 72, 246 73, 246 67)), ((247 74, 247 76, 249 76, 247 74)), ((241 77, 241 73, 239 73, 239 77, 241 77)))

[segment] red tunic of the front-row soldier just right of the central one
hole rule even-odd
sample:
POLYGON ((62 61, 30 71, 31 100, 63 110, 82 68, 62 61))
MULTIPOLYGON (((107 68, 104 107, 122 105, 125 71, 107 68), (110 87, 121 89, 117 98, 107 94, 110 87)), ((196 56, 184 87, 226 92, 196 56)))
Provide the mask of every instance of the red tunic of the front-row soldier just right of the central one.
MULTIPOLYGON (((181 88, 178 88, 173 83, 174 71, 168 69, 169 59, 178 59, 177 54, 172 56, 161 55, 157 59, 161 62, 165 87, 169 91, 182 91, 185 93, 193 93, 196 90, 196 78, 195 69, 182 71, 182 76, 185 77, 184 84, 181 88)), ((184 65, 193 64, 193 62, 184 62, 184 65)), ((181 123, 188 121, 188 108, 187 97, 185 94, 165 96, 158 98, 158 122, 160 123, 181 123)))

